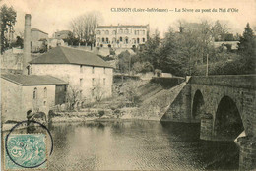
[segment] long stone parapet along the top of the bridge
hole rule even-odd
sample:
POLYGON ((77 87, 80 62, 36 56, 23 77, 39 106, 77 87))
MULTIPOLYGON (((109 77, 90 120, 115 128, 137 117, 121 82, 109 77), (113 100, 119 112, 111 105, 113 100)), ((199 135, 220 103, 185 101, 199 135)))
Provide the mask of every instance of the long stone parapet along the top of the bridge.
POLYGON ((256 89, 256 75, 193 76, 190 84, 256 89))

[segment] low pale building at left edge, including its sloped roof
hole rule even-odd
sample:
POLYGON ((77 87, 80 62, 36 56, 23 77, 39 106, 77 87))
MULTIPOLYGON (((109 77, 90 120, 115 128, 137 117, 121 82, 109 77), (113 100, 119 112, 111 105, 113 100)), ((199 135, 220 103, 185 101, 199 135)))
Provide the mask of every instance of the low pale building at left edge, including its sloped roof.
POLYGON ((2 122, 26 120, 28 110, 48 113, 65 102, 67 83, 52 76, 1 75, 2 122))

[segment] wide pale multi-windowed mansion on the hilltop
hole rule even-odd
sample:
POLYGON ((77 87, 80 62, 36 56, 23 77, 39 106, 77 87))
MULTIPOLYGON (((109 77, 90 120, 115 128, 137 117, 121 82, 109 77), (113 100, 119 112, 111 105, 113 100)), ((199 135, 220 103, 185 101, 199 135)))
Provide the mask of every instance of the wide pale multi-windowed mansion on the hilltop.
POLYGON ((96 46, 132 48, 145 44, 149 32, 146 26, 98 26, 96 27, 96 46))

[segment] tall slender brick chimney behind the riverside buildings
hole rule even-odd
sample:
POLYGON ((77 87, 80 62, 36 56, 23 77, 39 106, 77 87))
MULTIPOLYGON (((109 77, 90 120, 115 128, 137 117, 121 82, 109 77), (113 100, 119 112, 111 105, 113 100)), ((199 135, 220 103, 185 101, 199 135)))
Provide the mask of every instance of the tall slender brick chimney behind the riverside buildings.
POLYGON ((32 60, 31 57, 31 14, 25 15, 25 27, 24 27, 24 57, 23 57, 23 74, 29 74, 29 63, 32 60))

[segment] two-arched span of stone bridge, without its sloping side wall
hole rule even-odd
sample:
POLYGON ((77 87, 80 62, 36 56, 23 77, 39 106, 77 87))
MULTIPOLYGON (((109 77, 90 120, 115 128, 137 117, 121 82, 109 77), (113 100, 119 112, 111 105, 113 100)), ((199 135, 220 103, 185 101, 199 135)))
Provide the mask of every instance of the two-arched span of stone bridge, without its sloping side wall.
POLYGON ((192 77, 191 121, 201 122, 203 140, 256 136, 256 75, 192 77))

